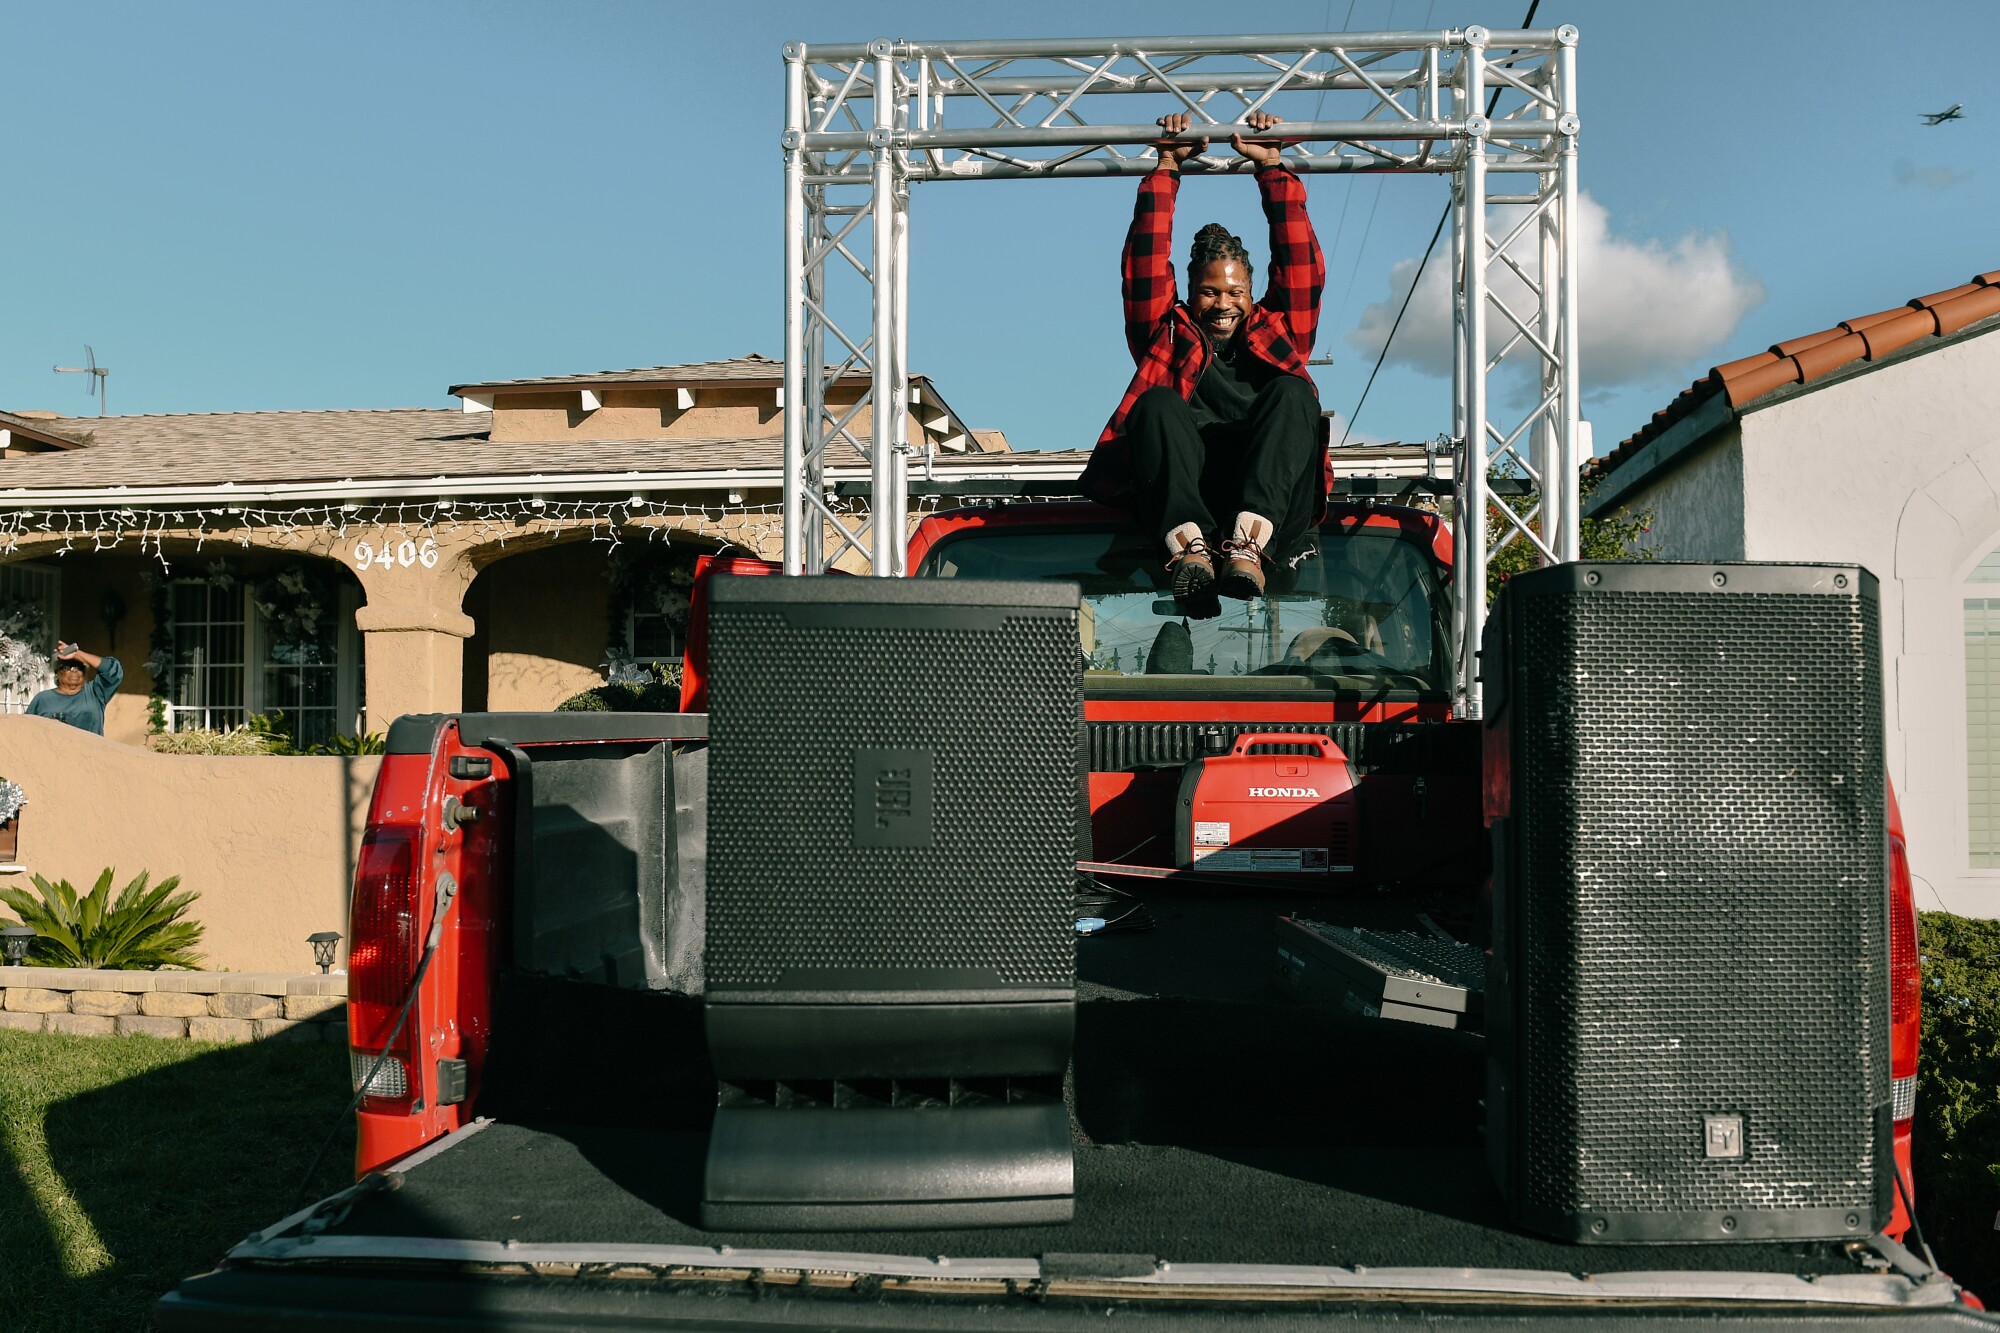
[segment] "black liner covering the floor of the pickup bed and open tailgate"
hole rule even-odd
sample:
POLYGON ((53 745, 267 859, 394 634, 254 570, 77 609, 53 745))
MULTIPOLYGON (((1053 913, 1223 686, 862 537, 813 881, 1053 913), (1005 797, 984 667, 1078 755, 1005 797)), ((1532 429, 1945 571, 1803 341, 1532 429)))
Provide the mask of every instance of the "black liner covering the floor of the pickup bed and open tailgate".
POLYGON ((1078 945, 1076 1221, 712 1233, 714 1083, 696 1003, 506 979, 482 1133, 358 1199, 332 1237, 872 1255, 1126 1255, 1146 1265, 1864 1273, 1842 1243, 1564 1245, 1516 1231, 1480 1141, 1478 1033, 1308 1009, 1270 985, 1302 911, 1414 925, 1390 899, 1148 899, 1158 929, 1078 945))

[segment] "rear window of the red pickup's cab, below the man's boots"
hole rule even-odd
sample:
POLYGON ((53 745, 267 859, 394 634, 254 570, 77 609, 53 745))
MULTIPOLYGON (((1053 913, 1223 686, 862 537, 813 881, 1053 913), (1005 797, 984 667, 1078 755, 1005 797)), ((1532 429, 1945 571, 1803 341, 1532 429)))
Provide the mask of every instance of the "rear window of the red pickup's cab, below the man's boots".
POLYGON ((1296 564, 1268 568, 1266 594, 1222 600, 1190 620, 1158 542, 1102 528, 994 528, 940 540, 920 578, 1058 578, 1084 594, 1086 685, 1136 689, 1160 677, 1286 689, 1444 691, 1450 596, 1430 552, 1394 532, 1324 528, 1296 564))

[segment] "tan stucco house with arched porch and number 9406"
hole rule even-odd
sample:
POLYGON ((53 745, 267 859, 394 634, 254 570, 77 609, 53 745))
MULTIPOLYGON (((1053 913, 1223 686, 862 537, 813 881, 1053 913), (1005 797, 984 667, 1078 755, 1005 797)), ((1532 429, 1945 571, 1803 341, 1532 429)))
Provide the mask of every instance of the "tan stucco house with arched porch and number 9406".
MULTIPOLYGON (((462 408, 0 412, 0 616, 116 652, 114 741, 252 713, 320 741, 552 709, 608 662, 674 662, 692 558, 782 550, 776 360, 450 392, 462 408)), ((908 410, 942 484, 1082 466, 970 430, 924 376, 908 410)), ((866 476, 828 454, 828 482, 866 476)), ((42 685, 0 687, 0 711, 42 685)))

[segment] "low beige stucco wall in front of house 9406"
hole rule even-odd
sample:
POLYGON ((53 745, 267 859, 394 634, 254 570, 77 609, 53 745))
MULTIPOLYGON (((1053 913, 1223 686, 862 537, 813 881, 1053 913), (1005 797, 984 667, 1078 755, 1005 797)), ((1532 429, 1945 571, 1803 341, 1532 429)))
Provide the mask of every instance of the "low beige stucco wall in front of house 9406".
MULTIPOLYGON (((120 644, 124 634, 120 632, 120 644)), ((314 931, 348 931, 348 885, 380 759, 154 755, 38 717, 0 715, 0 777, 20 783, 20 863, 90 889, 104 867, 200 893, 206 965, 308 971, 314 931)), ((28 873, 0 885, 32 891, 28 873)), ((344 947, 344 945, 342 945, 344 947)), ((344 955, 342 955, 344 957, 344 955)))

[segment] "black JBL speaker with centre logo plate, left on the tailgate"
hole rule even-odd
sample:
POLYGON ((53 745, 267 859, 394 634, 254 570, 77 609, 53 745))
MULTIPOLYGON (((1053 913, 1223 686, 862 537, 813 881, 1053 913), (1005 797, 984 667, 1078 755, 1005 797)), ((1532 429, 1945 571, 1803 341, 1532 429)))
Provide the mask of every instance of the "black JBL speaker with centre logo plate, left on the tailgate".
POLYGON ((1068 1221, 1076 584, 716 578, 702 1225, 1068 1221))

